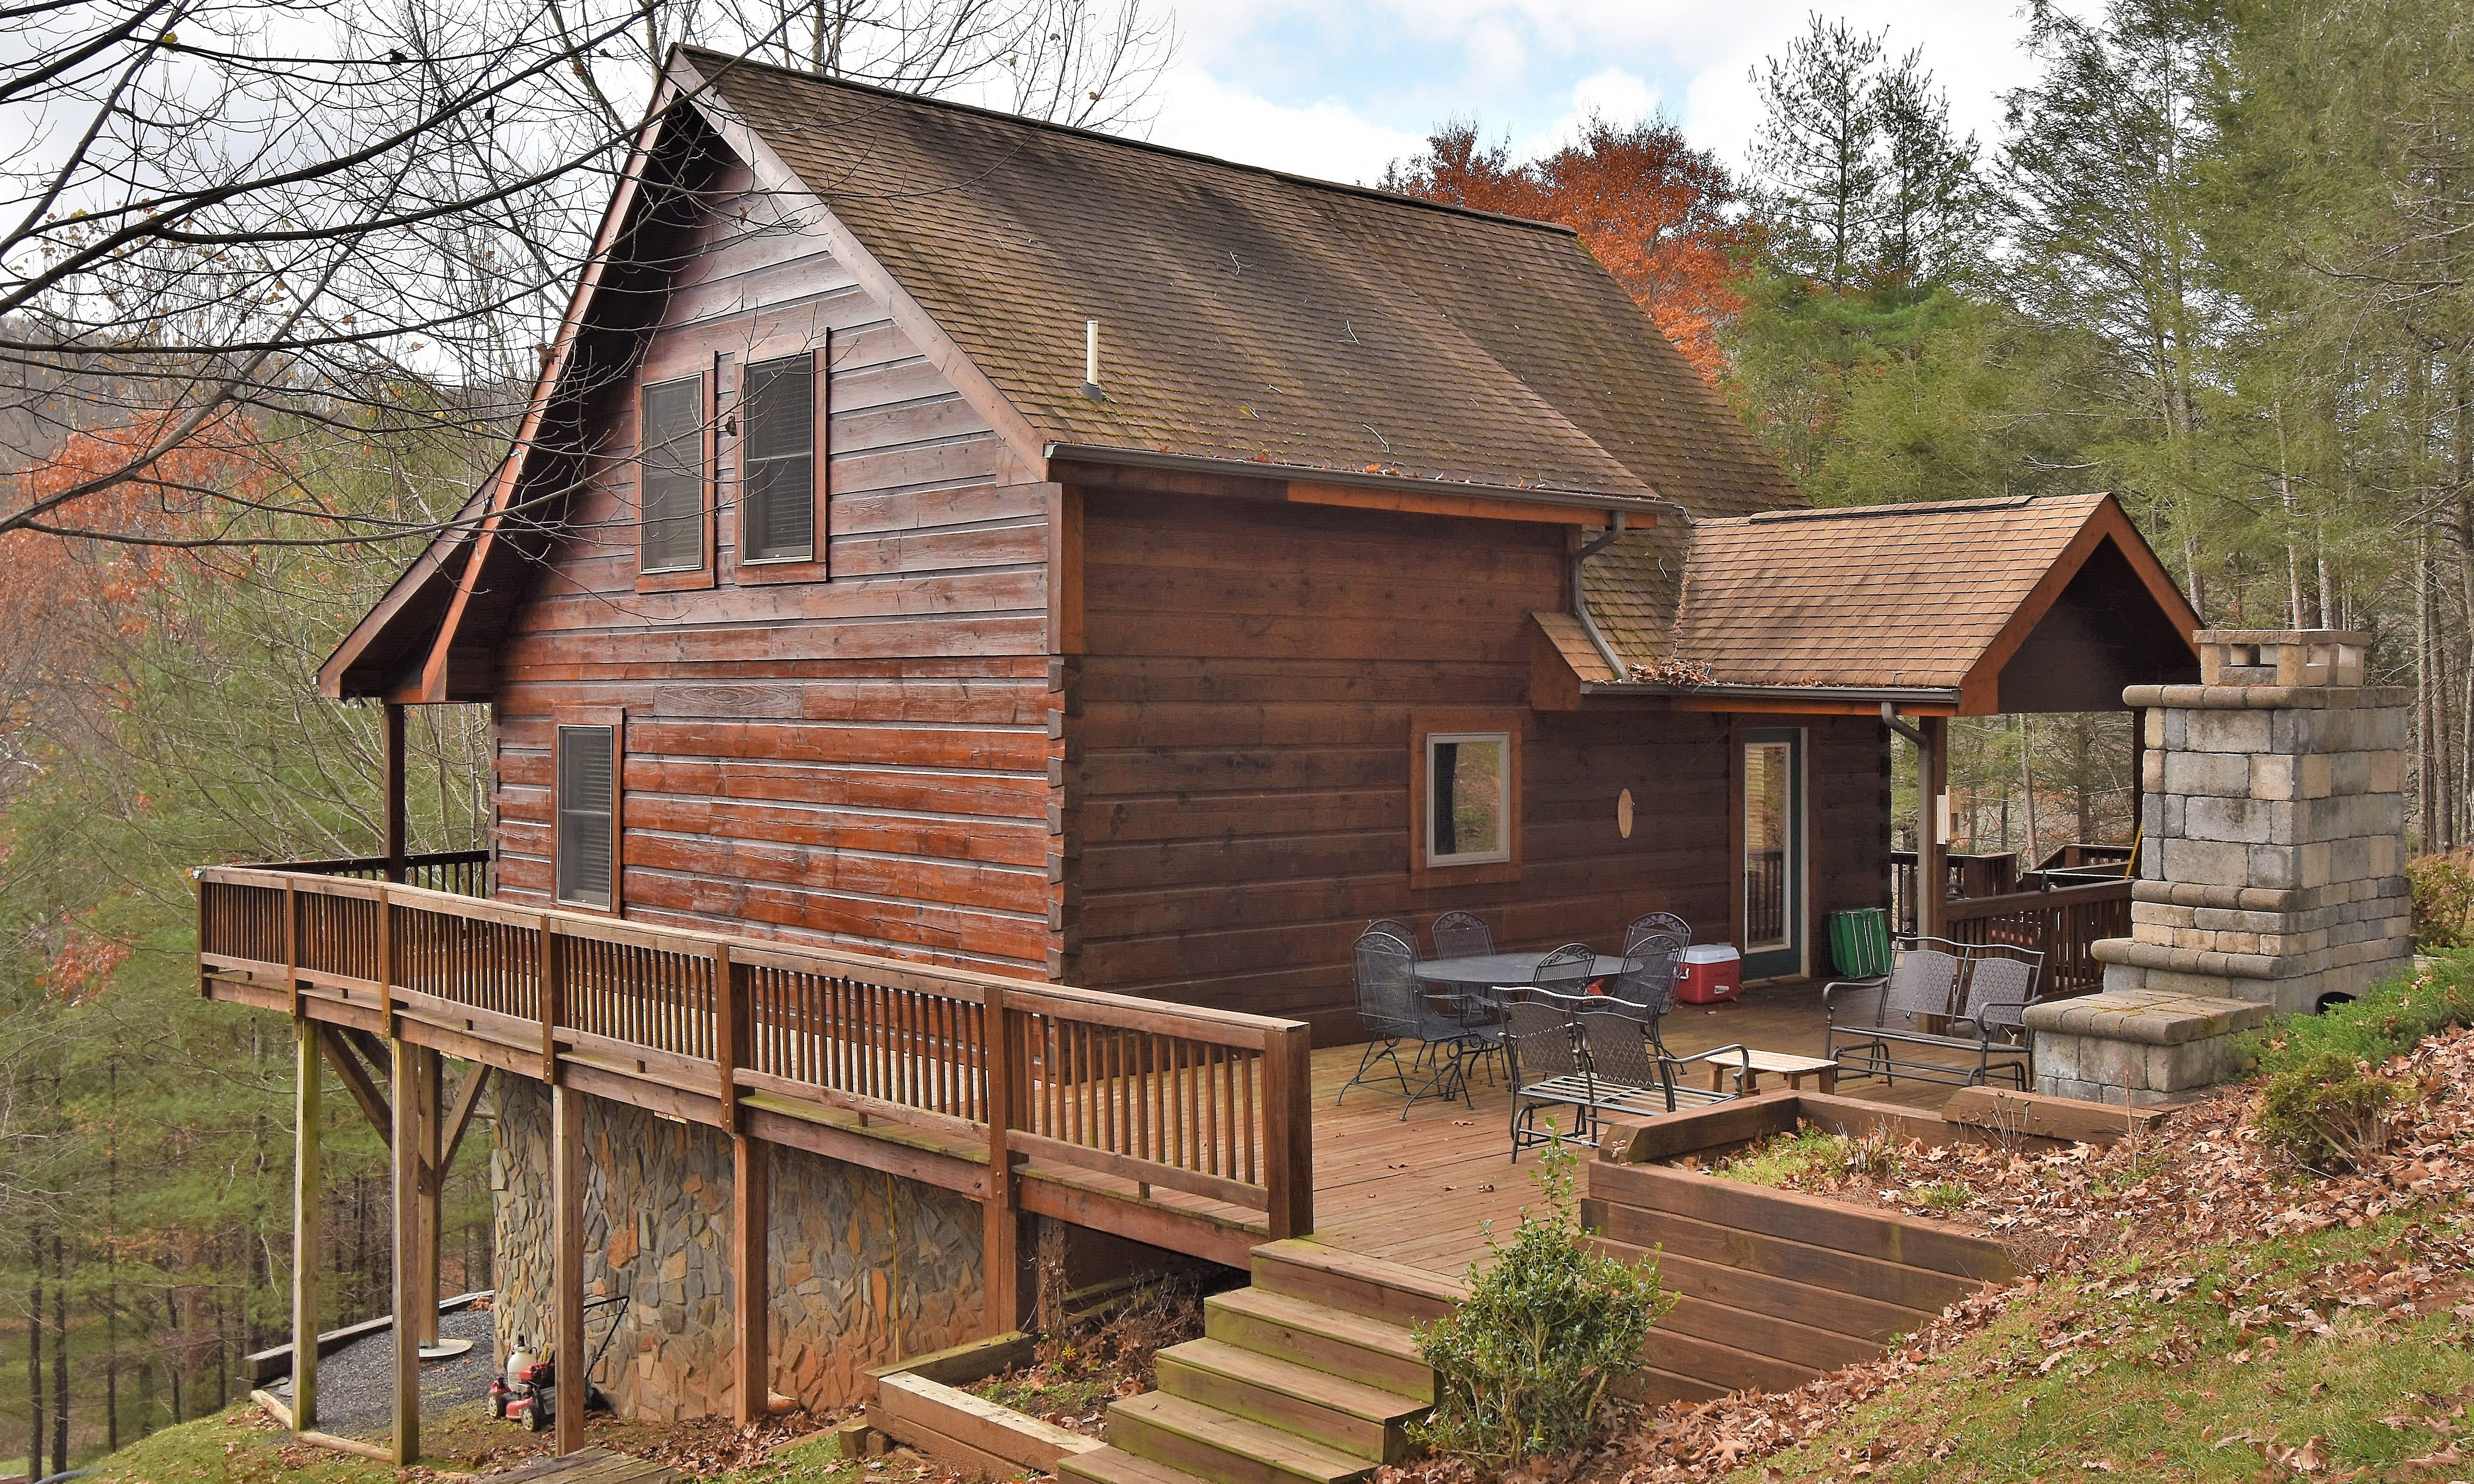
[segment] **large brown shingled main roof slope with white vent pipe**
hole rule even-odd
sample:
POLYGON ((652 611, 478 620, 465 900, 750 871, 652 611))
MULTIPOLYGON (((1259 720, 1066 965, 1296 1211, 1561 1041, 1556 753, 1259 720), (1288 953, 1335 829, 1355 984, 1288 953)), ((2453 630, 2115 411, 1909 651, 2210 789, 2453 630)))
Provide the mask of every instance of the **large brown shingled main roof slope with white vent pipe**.
POLYGON ((680 57, 1049 443, 1804 502, 1566 228, 680 57))

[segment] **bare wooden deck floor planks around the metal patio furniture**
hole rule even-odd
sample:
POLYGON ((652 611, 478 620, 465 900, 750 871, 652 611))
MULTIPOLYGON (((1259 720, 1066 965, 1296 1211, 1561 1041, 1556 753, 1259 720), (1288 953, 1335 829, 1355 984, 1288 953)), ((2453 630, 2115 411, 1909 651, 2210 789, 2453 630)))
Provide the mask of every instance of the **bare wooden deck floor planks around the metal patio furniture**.
MULTIPOLYGON (((1680 1007, 1667 1019, 1667 1046, 1690 1054, 1742 1041, 1821 1056, 1821 984, 1759 984, 1739 1004, 1680 1007)), ((1385 1086, 1353 1088, 1333 1106, 1358 1051, 1314 1051, 1314 1239, 1457 1279, 1487 1256, 1489 1222, 1509 1237, 1522 1207, 1536 1202, 1536 1153, 1512 1162, 1509 1096, 1484 1073, 1470 1088, 1475 1106, 1420 1098, 1405 1120, 1400 1093, 1385 1086)), ((1940 1108, 1954 1088, 1860 1078, 1838 1091, 1940 1108)))

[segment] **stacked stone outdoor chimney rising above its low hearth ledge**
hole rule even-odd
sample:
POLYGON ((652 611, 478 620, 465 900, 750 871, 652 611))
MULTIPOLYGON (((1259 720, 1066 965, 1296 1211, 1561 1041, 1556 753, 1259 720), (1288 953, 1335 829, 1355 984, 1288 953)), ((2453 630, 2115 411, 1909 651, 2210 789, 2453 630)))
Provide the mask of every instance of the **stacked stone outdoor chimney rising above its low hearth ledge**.
POLYGON ((2276 1014, 2360 994, 2412 960, 2407 693, 2363 685, 2368 633, 2202 631, 2199 685, 2133 685, 2147 712, 2130 937, 2105 992, 2244 999, 2276 1014))

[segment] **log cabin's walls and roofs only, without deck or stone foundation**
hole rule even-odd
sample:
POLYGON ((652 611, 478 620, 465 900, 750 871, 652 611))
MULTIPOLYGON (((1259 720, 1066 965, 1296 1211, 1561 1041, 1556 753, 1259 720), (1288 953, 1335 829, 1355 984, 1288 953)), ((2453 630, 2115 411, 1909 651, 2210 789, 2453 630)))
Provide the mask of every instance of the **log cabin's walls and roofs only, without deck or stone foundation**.
POLYGON ((2197 673, 2113 500, 1808 510, 1566 228, 663 87, 507 467, 319 675, 492 707, 502 900, 1329 1041, 1368 918, 1826 970, 1883 715, 2197 673))

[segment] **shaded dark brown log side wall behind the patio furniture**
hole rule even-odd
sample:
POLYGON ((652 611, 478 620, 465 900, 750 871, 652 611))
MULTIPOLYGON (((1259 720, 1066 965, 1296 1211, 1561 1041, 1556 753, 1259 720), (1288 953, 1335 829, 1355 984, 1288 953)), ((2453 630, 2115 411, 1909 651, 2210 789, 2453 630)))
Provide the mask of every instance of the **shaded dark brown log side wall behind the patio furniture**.
MULTIPOLYGON (((1467 908, 1544 950, 1618 947, 1665 908, 1732 935, 1724 715, 1526 712, 1519 881, 1410 885, 1410 715, 1524 707, 1529 613, 1566 606, 1561 527, 1081 500, 1071 982, 1309 1019, 1329 1044, 1358 1036, 1368 918, 1467 908)), ((1888 744, 1878 720, 1781 725, 1811 730, 1826 970, 1818 915, 1888 898, 1888 744)))

